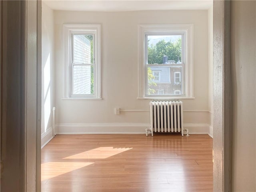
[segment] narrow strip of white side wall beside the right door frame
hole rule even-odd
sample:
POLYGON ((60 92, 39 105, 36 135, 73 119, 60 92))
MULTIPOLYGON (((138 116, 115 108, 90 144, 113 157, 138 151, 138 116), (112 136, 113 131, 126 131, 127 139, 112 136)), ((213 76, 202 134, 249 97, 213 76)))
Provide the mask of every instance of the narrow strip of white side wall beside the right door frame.
POLYGON ((213 136, 213 6, 208 9, 208 109, 210 135, 213 136))

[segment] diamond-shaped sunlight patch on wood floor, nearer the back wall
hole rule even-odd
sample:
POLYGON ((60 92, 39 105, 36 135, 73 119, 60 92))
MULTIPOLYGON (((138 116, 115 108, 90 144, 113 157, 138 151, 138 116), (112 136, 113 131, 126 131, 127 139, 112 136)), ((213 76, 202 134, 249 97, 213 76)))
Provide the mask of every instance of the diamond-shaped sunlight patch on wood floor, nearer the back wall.
POLYGON ((130 149, 132 148, 99 147, 64 159, 105 159, 130 149))

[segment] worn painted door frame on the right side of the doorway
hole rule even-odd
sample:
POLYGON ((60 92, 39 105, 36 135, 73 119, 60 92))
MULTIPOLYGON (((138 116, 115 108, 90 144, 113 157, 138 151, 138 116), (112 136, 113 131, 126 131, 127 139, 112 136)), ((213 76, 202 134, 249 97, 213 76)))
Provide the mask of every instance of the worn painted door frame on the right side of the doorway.
POLYGON ((213 1, 213 190, 231 191, 230 1, 213 1))

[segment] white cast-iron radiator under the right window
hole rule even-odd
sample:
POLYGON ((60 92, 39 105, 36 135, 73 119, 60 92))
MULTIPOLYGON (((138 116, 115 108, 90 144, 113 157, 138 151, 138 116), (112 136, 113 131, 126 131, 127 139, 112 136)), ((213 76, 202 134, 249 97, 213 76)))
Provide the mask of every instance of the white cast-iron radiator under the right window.
POLYGON ((183 136, 183 105, 181 101, 150 102, 150 129, 146 129, 153 136, 153 132, 179 132, 183 136))

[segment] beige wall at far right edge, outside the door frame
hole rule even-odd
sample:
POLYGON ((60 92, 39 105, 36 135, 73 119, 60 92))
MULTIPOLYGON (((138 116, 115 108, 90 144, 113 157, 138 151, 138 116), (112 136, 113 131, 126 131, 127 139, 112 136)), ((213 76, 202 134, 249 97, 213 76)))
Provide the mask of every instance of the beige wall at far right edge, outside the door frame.
POLYGON ((256 2, 231 1, 232 191, 256 191, 256 2))

